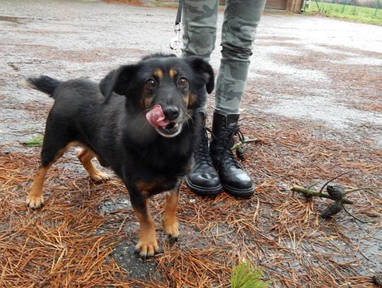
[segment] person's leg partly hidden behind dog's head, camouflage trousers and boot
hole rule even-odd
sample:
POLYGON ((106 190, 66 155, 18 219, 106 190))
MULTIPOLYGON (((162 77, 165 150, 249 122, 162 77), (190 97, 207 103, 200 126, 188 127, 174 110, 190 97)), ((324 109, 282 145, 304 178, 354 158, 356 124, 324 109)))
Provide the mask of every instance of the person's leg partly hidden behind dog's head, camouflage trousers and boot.
MULTIPOLYGON (((216 40, 218 0, 185 0, 183 9, 183 56, 197 55, 209 60, 216 40)), ((219 175, 209 155, 209 142, 205 128, 206 106, 200 139, 194 154, 194 166, 186 177, 188 187, 197 195, 216 195, 221 191, 219 175)))

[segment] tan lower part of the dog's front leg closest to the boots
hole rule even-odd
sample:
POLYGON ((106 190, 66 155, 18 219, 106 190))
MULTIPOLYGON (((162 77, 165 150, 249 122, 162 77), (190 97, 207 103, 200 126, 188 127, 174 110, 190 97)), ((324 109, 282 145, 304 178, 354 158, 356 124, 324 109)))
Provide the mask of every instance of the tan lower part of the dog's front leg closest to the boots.
POLYGON ((162 219, 162 227, 164 234, 171 238, 178 238, 178 221, 175 218, 176 207, 179 200, 179 190, 171 190, 166 193, 165 212, 162 219))

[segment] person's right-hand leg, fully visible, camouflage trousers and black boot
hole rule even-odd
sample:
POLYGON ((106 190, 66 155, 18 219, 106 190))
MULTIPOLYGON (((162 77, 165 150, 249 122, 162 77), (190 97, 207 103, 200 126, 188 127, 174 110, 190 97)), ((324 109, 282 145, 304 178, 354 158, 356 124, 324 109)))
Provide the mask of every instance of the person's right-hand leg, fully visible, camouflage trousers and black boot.
POLYGON ((210 149, 223 188, 237 197, 253 194, 250 175, 231 151, 238 129, 238 111, 245 90, 250 55, 265 0, 226 0, 221 32, 221 66, 216 80, 210 149))

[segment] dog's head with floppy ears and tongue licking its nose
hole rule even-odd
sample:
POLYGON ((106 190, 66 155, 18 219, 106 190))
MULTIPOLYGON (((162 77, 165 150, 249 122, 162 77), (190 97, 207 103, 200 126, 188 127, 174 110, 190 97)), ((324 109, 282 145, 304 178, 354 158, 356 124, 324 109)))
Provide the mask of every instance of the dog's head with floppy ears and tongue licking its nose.
POLYGON ((187 117, 204 105, 206 91, 213 90, 212 67, 193 56, 156 54, 111 71, 100 81, 105 101, 113 92, 126 96, 127 105, 147 113, 147 121, 163 137, 178 135, 187 117))

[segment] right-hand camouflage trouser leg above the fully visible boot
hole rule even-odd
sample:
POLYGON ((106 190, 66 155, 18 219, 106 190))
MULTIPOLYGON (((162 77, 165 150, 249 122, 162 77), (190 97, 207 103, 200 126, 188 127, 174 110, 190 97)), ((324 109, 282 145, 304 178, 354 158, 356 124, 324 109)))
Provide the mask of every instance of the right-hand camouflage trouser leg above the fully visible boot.
POLYGON ((245 90, 253 41, 265 0, 226 0, 221 31, 221 65, 216 79, 215 110, 238 114, 245 90))

